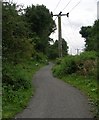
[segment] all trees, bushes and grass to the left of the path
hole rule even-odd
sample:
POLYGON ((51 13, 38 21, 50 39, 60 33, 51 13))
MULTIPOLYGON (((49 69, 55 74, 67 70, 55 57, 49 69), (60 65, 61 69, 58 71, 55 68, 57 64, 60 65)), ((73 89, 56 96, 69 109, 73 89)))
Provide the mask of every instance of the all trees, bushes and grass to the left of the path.
POLYGON ((2 114, 12 118, 34 94, 32 77, 48 63, 49 35, 55 23, 43 5, 23 10, 20 5, 2 2, 2 11, 2 114))

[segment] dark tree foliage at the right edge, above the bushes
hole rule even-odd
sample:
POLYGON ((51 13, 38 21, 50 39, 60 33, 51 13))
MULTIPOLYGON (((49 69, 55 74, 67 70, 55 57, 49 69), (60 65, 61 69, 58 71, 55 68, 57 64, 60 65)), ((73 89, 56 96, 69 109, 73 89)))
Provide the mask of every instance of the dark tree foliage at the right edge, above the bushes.
POLYGON ((99 37, 99 20, 94 22, 93 26, 83 26, 80 30, 80 34, 85 38, 86 51, 97 51, 99 37))

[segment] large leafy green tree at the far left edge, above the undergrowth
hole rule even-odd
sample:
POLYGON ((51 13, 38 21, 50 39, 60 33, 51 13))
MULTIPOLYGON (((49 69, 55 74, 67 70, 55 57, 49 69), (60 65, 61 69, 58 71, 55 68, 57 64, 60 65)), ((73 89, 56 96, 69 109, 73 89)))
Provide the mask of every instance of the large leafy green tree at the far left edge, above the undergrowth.
POLYGON ((3 60, 17 63, 30 58, 33 45, 28 38, 27 23, 17 11, 16 4, 3 2, 3 60))

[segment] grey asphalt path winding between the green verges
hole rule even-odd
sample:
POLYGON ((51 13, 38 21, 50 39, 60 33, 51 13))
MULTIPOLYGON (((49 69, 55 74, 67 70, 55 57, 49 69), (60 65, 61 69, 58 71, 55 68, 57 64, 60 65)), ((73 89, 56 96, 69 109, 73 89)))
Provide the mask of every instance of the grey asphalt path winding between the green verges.
POLYGON ((16 118, 92 118, 87 97, 54 78, 51 68, 50 63, 35 74, 35 95, 16 118))

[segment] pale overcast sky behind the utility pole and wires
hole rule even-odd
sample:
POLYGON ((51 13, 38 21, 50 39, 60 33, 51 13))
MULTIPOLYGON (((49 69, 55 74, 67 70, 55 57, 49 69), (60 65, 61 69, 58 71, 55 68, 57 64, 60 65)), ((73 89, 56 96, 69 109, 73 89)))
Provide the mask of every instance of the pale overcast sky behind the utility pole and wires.
MULTIPOLYGON (((69 53, 76 54, 77 49, 84 48, 84 39, 79 34, 82 26, 93 25, 97 19, 97 1, 99 0, 10 0, 17 4, 29 5, 45 5, 54 14, 70 12, 69 18, 63 16, 62 19, 62 38, 67 41, 69 53), (80 1, 80 2, 79 2, 80 1), (59 3, 59 4, 58 4, 59 3), (68 4, 69 3, 69 4, 68 4), (79 4, 78 4, 79 3, 79 4), (68 4, 68 5, 67 5, 68 4), (78 5, 77 5, 78 4, 78 5), (77 5, 75 8, 74 6, 77 5), (65 8, 65 6, 67 6, 65 8), (64 9, 65 8, 65 9, 64 9), (72 9, 74 8, 74 9, 72 9), (64 10, 63 10, 64 9, 64 10)), ((53 17, 55 19, 55 17, 53 17)), ((57 24, 56 19, 56 24, 57 24)), ((58 39, 58 31, 50 37, 54 40, 58 39)))

